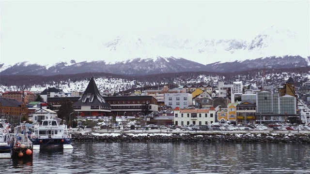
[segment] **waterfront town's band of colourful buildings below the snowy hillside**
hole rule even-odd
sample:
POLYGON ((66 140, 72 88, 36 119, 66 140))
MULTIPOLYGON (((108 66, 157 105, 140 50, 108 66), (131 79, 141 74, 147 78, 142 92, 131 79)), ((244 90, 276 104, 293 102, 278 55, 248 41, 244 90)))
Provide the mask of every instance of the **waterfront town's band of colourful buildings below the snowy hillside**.
POLYGON ((93 120, 97 124, 92 127, 103 122, 119 128, 122 123, 134 119, 141 122, 136 127, 156 125, 157 128, 189 125, 308 126, 310 82, 295 87, 290 77, 285 84, 263 86, 262 89, 246 89, 242 82, 218 82, 217 86, 186 85, 173 89, 167 85, 108 96, 98 90, 92 77, 82 92, 64 93, 57 87, 49 87, 39 95, 27 90, 1 92, 0 113, 11 123, 22 120, 40 122, 46 116, 57 117, 66 101, 71 103, 73 112, 58 116, 58 119, 74 128, 90 126, 88 124, 93 120), (36 102, 37 96, 42 100, 36 102))

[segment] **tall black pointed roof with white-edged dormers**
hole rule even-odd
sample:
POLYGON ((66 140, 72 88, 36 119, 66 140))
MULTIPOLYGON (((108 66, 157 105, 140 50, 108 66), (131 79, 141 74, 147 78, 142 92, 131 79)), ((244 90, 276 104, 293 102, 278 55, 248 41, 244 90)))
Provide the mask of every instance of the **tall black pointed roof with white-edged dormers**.
POLYGON ((88 86, 85 89, 84 94, 81 98, 78 99, 77 102, 73 104, 74 106, 81 106, 81 105, 87 105, 87 106, 106 106, 106 108, 110 108, 111 106, 106 103, 106 101, 103 99, 103 97, 100 95, 100 91, 93 79, 88 83, 88 86))

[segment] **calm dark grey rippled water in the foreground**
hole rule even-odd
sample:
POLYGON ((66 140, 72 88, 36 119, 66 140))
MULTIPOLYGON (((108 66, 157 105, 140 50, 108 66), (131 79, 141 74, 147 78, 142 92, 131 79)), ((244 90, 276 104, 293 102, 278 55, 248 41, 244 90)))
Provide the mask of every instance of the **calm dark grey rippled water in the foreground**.
POLYGON ((1 174, 310 174, 310 145, 74 143, 0 160, 1 174))

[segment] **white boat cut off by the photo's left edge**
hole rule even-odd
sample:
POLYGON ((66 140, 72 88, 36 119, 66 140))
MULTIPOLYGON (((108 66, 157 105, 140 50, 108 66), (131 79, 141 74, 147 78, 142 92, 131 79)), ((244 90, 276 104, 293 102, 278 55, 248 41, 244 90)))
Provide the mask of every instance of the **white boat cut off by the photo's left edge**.
POLYGON ((0 159, 10 159, 14 140, 11 136, 11 128, 6 119, 0 119, 0 159))

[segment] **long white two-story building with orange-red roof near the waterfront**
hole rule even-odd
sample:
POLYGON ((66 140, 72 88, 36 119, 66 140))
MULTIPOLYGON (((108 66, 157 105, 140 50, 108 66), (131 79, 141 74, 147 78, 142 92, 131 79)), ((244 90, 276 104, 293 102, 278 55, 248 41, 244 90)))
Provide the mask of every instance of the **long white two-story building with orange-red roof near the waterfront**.
POLYGON ((174 109, 175 125, 183 126, 190 124, 209 125, 216 120, 216 110, 212 107, 210 109, 174 109))

